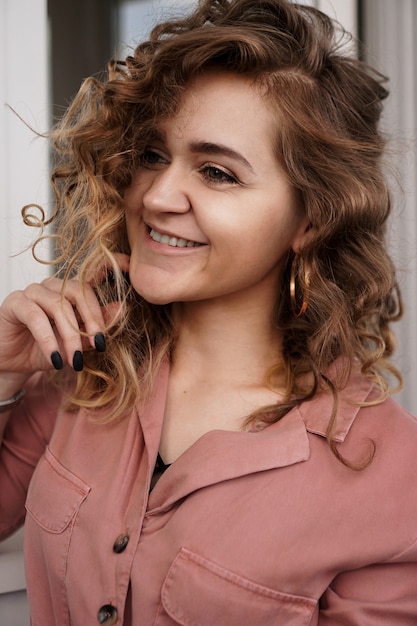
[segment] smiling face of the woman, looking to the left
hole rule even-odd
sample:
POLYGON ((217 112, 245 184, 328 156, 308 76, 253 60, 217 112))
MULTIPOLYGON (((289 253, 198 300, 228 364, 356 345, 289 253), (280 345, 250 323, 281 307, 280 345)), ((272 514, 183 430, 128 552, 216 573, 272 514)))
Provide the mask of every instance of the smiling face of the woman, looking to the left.
POLYGON ((275 301, 307 220, 273 151, 275 121, 233 74, 202 76, 125 193, 130 280, 154 304, 275 301))

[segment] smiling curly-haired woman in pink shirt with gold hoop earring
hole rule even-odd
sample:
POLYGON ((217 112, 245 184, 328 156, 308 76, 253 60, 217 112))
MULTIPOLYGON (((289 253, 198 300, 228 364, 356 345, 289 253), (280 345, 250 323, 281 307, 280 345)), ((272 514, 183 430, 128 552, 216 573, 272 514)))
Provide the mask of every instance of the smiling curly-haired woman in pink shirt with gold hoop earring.
POLYGON ((315 9, 207 0, 84 83, 62 278, 0 309, 34 625, 415 623, 383 82, 315 9))

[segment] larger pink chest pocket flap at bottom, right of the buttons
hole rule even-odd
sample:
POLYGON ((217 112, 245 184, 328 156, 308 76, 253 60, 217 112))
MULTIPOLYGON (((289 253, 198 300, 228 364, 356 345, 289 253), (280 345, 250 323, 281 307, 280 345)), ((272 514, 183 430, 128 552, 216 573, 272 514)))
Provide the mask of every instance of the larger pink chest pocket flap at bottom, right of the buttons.
POLYGON ((264 587, 183 548, 165 579, 165 615, 155 626, 307 626, 316 606, 311 598, 264 587))

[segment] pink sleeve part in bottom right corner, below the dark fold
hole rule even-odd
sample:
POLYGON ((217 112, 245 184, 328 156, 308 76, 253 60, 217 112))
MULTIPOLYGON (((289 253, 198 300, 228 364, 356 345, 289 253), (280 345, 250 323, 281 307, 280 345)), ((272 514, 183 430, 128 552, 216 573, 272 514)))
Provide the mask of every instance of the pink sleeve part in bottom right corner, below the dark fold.
POLYGON ((417 543, 401 559, 339 574, 320 600, 320 626, 415 626, 417 543))

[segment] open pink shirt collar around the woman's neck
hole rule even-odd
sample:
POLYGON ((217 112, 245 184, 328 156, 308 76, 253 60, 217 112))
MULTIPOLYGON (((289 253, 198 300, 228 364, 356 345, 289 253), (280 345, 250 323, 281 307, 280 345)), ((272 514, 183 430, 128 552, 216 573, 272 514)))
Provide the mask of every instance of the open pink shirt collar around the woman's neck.
MULTIPOLYGON (((150 474, 159 448, 168 376, 169 363, 166 360, 161 365, 154 394, 139 412, 149 454, 150 474)), ((340 392, 336 441, 341 442, 347 436, 360 403, 367 398, 371 388, 372 383, 355 372, 340 392)), ((323 391, 263 430, 213 430, 206 433, 159 479, 149 496, 148 514, 166 509, 208 485, 307 461, 310 457, 308 433, 325 437, 332 409, 333 397, 330 392, 323 391)))

